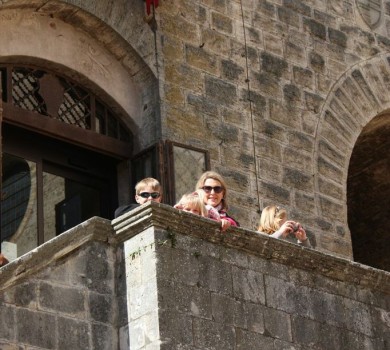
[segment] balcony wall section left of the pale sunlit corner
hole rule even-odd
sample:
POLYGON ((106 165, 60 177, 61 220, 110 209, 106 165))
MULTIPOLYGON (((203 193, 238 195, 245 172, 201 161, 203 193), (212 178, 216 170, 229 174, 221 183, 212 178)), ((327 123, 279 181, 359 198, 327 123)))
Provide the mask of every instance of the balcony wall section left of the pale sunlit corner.
POLYGON ((93 218, 1 269, 1 349, 118 348, 126 291, 112 235, 93 218))

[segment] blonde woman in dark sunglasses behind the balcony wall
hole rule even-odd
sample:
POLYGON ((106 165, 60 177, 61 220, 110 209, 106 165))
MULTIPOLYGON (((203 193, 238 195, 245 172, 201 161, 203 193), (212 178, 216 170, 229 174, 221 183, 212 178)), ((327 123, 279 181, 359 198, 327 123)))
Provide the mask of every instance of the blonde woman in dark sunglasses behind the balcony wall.
POLYGON ((239 223, 227 214, 228 204, 226 200, 227 188, 223 177, 214 172, 206 171, 199 178, 195 191, 201 192, 203 202, 214 208, 220 215, 222 231, 230 226, 240 226, 239 223))

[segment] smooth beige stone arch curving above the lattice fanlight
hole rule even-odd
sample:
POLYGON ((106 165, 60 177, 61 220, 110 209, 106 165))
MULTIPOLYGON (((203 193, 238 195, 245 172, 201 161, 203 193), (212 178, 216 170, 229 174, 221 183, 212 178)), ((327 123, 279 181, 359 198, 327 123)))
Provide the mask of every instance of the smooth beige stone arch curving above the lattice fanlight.
POLYGON ((0 62, 65 73, 112 107, 133 135, 145 136, 134 140, 135 150, 155 141, 157 78, 150 63, 110 25, 66 1, 5 1, 0 19, 0 62))

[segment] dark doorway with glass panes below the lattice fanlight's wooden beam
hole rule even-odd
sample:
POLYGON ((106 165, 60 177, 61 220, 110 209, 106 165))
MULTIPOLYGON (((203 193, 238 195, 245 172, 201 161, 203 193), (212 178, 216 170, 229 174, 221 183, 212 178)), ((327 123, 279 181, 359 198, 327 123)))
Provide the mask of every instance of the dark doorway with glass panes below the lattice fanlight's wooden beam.
POLYGON ((17 256, 92 216, 113 218, 118 159, 7 123, 2 134, 1 238, 17 256))

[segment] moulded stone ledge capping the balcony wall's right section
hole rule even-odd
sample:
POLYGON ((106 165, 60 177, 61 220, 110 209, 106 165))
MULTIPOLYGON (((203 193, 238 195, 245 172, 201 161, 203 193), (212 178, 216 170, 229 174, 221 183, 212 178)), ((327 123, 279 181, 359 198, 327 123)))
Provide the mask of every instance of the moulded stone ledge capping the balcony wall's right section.
POLYGON ((149 202, 112 221, 118 243, 124 242, 148 227, 155 226, 189 235, 273 262, 327 276, 390 294, 390 273, 331 254, 305 248, 256 231, 231 227, 219 230, 210 219, 179 211, 164 204, 149 202))

